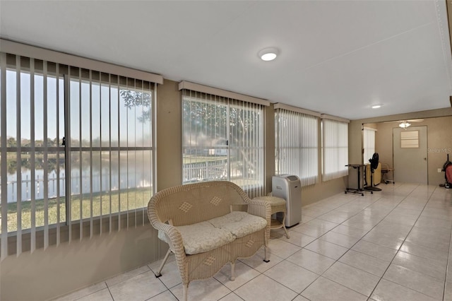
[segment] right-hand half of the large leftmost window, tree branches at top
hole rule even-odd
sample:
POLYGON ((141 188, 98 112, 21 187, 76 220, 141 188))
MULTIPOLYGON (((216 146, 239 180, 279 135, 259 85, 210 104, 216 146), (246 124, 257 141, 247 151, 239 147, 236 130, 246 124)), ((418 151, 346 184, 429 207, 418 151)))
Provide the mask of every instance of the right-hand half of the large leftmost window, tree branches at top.
POLYGON ((69 78, 70 221, 147 206, 153 84, 74 67, 69 78))

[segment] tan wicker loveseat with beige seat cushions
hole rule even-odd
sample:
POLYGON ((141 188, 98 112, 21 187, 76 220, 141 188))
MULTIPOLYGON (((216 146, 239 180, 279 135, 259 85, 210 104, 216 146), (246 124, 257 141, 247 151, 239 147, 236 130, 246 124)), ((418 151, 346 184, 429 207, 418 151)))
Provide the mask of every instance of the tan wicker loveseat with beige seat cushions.
POLYGON ((184 300, 190 281, 210 278, 222 266, 253 256, 262 246, 268 261, 270 205, 251 200, 227 181, 186 184, 164 189, 148 203, 148 217, 169 250, 174 253, 182 278, 184 300))

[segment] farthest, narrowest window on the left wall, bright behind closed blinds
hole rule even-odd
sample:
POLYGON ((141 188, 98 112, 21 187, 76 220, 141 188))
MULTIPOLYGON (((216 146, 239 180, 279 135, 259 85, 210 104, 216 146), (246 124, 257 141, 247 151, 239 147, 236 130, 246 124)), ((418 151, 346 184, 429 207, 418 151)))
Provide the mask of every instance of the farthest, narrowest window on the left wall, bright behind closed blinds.
POLYGON ((348 123, 323 118, 323 182, 348 175, 348 123))

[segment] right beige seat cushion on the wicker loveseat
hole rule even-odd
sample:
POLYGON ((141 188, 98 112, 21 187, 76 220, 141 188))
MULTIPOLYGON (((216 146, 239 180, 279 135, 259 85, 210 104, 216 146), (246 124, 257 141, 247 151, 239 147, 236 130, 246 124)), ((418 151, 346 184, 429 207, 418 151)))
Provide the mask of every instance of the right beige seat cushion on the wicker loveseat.
POLYGON ((215 228, 230 231, 235 238, 244 237, 245 235, 262 230, 267 225, 267 221, 264 218, 242 211, 233 211, 225 216, 208 220, 208 222, 215 226, 215 228))

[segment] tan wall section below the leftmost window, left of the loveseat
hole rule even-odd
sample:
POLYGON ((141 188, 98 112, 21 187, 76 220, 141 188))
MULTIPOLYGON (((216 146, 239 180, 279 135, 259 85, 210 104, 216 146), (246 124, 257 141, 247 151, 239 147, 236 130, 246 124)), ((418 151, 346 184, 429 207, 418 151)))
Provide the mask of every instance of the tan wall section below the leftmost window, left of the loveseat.
POLYGON ((11 255, 1 262, 1 300, 48 300, 165 254, 148 224, 93 239, 11 255))

